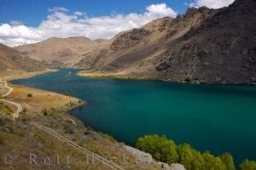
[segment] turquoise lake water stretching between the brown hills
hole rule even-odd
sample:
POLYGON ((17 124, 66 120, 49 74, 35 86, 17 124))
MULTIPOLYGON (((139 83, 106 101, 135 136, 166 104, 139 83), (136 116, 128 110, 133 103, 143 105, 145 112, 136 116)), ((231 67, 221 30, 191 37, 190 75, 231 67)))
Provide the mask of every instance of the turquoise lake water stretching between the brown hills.
POLYGON ((236 162, 256 160, 256 87, 83 78, 76 72, 12 83, 86 100, 71 114, 126 144, 159 134, 201 151, 232 153, 236 162))

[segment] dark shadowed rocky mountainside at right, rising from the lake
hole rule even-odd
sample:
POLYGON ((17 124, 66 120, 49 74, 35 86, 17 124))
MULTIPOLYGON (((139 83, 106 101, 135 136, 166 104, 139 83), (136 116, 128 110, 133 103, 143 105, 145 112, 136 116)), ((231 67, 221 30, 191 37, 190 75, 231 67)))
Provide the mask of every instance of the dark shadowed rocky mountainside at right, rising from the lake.
POLYGON ((156 66, 161 78, 206 83, 254 83, 256 1, 237 0, 184 35, 156 66))

